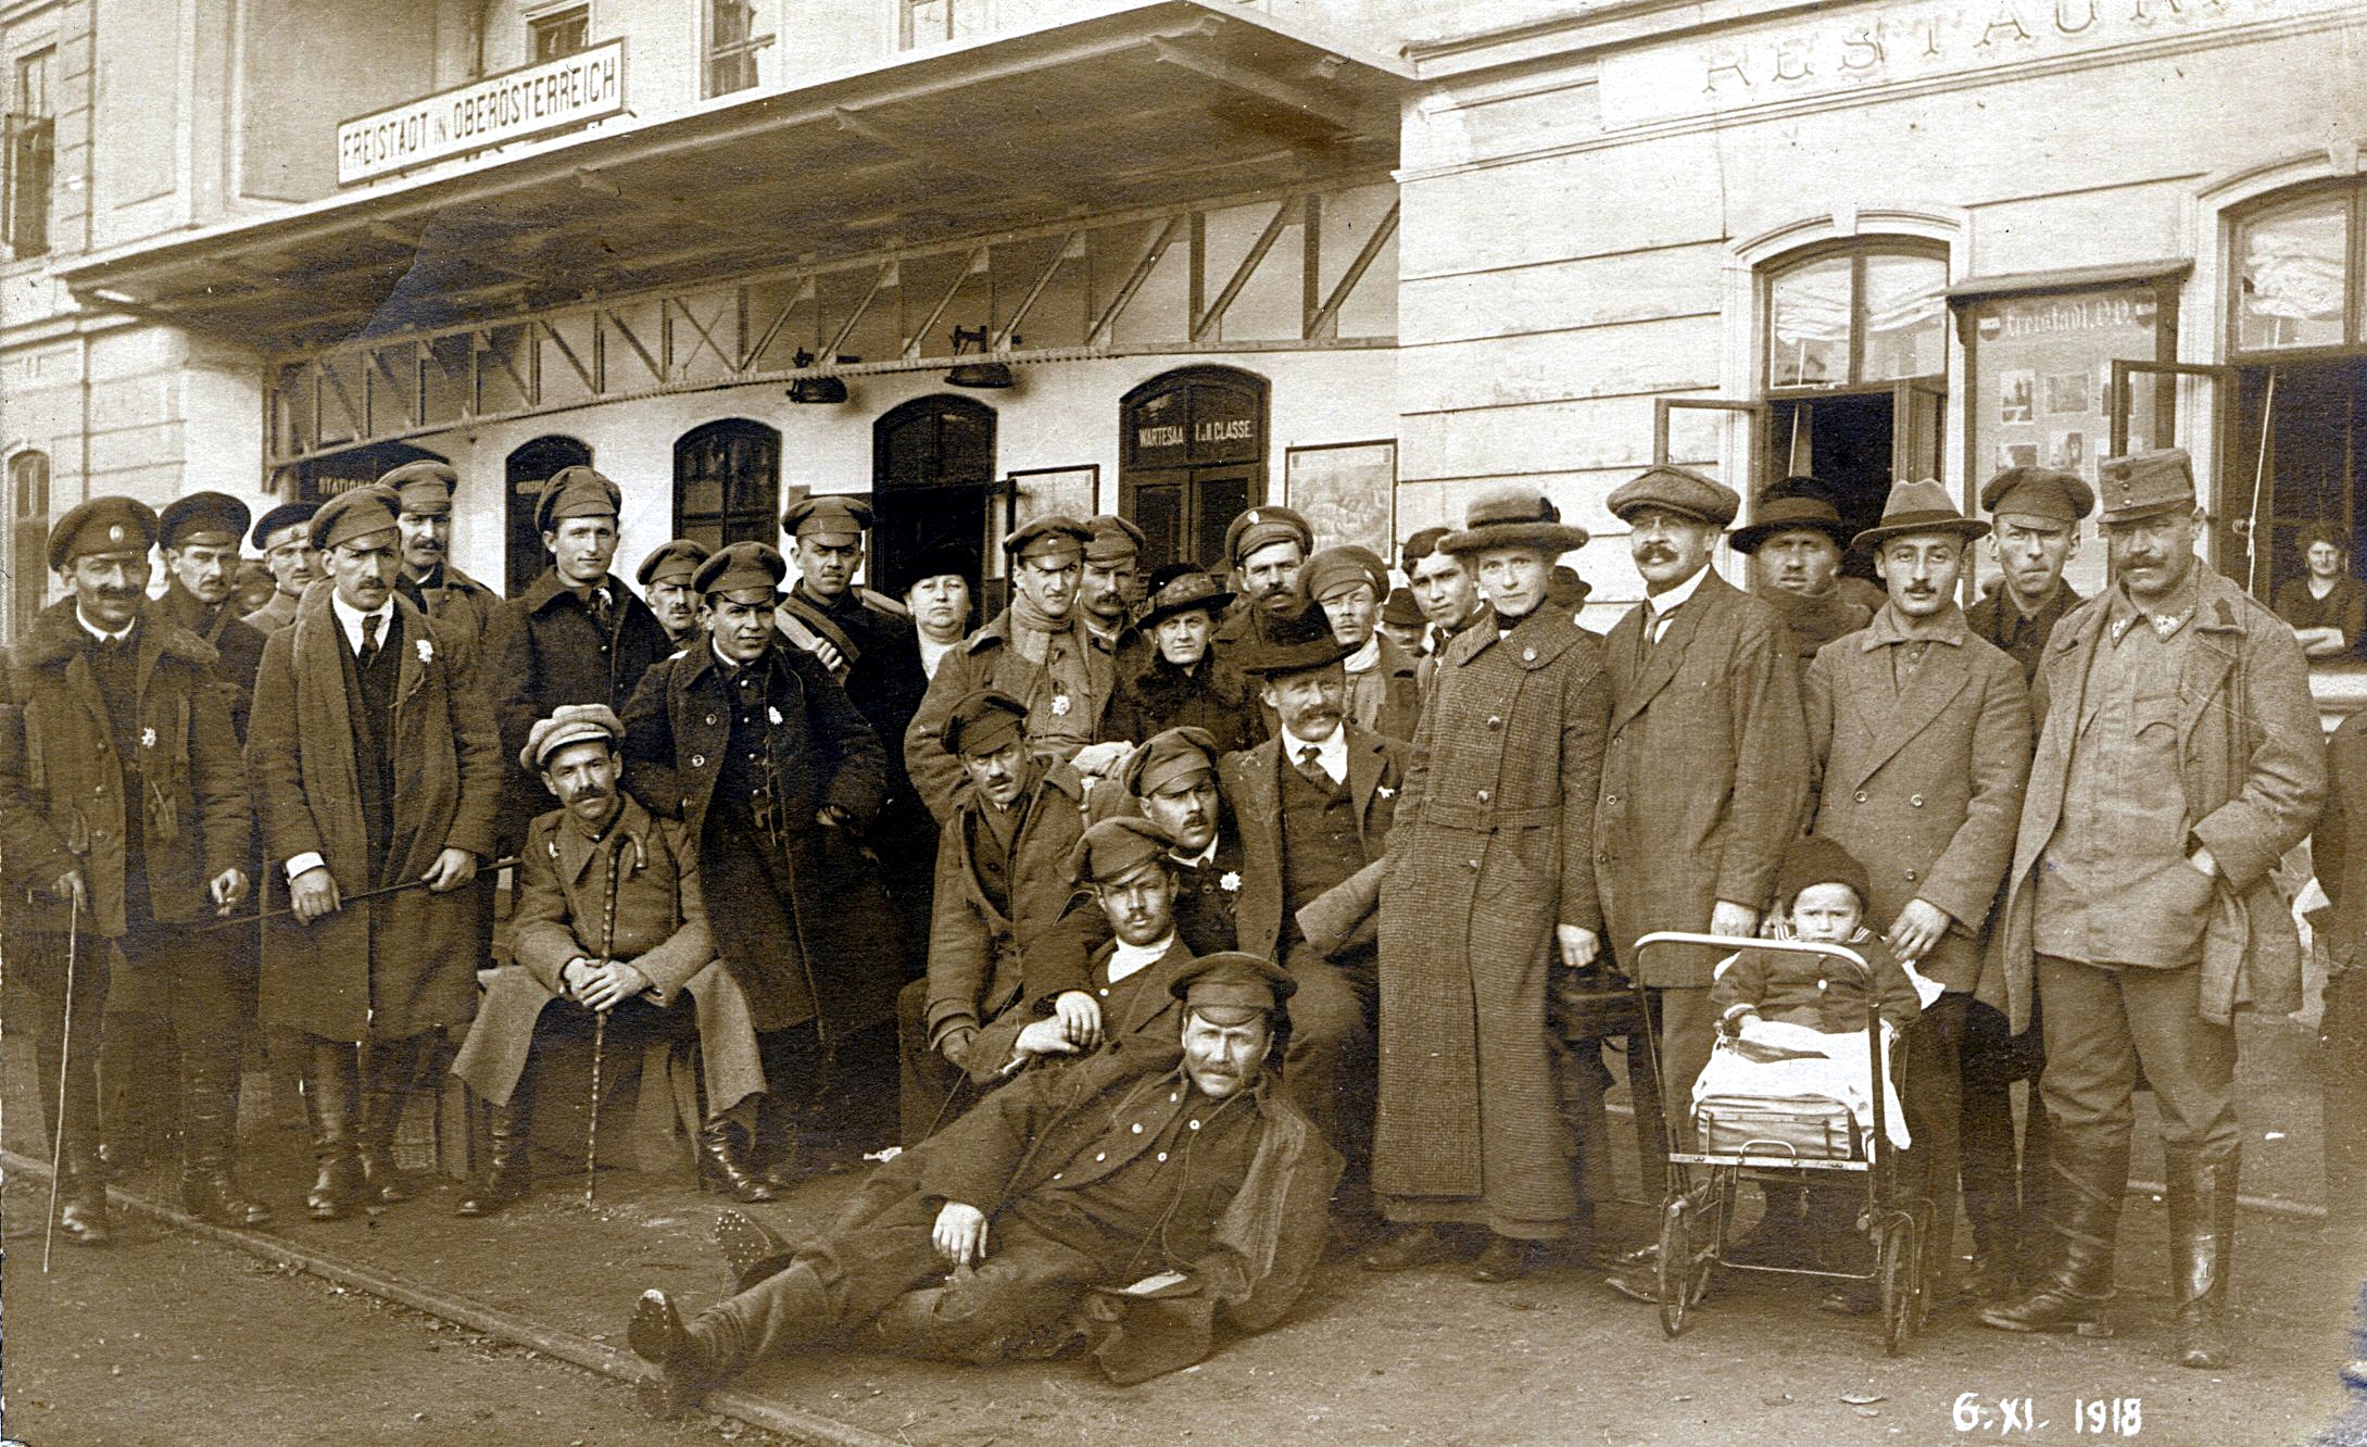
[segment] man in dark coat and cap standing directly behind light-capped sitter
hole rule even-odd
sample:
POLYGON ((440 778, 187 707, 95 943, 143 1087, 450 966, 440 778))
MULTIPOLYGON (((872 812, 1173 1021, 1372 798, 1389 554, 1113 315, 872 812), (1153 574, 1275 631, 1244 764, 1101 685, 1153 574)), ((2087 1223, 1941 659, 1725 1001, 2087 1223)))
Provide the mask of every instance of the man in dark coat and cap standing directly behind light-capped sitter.
MULTIPOLYGON (((561 703, 623 713, 649 665, 675 651, 649 604, 608 573, 620 502, 623 490, 589 467, 561 467, 535 495, 535 530, 552 566, 485 625, 488 694, 499 708, 507 758, 561 703)), ((511 774, 504 836, 516 838, 537 812, 540 786, 511 774)))

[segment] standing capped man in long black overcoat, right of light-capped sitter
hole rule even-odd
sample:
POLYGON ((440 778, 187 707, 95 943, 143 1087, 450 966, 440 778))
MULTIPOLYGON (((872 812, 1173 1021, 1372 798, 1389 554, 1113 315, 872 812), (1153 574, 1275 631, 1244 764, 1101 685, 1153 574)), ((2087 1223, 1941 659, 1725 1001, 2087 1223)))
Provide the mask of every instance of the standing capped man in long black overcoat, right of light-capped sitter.
MULTIPOLYGON (((734 542, 698 566, 708 642, 663 658, 625 706, 625 786, 696 841, 715 952, 739 978, 774 1104, 821 1085, 795 1056, 895 1016, 895 924, 862 831, 888 760, 831 670, 774 628, 788 561, 734 542)), ((757 1158, 788 1179, 788 1120, 757 1158)))

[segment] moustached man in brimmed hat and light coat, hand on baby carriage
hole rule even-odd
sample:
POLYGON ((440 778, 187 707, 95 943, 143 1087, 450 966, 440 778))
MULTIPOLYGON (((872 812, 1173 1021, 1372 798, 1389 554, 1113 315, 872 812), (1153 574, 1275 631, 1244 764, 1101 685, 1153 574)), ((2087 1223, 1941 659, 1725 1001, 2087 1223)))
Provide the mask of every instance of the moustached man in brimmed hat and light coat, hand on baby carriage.
POLYGON ((2031 772, 2021 668, 1974 637, 1955 604, 1965 552, 1984 533, 1934 481, 1891 488, 1882 523, 1856 538, 1891 599, 1865 630, 1825 644, 1804 684, 1811 834, 1868 864, 1865 924, 1941 988, 1898 1042, 1915 1139, 1901 1179, 1931 1201, 1936 1293, 1955 1258, 1965 1018, 2031 772))

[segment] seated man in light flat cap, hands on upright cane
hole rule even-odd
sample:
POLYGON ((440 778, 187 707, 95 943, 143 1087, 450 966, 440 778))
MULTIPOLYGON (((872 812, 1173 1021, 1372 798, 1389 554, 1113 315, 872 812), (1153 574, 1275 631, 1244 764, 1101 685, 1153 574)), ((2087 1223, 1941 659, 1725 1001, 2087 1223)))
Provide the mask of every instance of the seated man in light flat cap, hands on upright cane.
POLYGON ((492 1215, 528 1194, 533 1054, 554 1037, 592 1035, 594 1014, 608 1016, 611 1059, 696 1023, 708 1087, 701 1156, 741 1201, 772 1201, 743 1156, 765 1092, 748 997, 715 962, 689 836, 620 789, 623 744, 625 725, 606 703, 568 703, 533 727, 518 755, 559 808, 525 831, 509 926, 516 964, 492 973, 452 1061, 492 1104, 485 1172, 457 1215, 492 1215))

